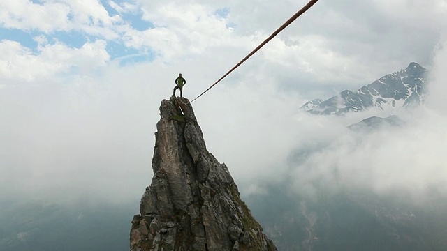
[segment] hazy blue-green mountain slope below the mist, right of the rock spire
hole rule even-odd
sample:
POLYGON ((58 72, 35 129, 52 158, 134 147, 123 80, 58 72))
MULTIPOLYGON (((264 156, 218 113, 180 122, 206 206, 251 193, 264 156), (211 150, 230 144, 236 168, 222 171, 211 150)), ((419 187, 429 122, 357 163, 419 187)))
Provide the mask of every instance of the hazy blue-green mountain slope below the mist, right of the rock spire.
POLYGON ((423 208, 367 190, 291 192, 289 180, 267 184, 247 201, 279 250, 446 250, 444 203, 423 208), (262 206, 270 201, 275 206, 262 206), (444 204, 444 205, 443 205, 444 204))

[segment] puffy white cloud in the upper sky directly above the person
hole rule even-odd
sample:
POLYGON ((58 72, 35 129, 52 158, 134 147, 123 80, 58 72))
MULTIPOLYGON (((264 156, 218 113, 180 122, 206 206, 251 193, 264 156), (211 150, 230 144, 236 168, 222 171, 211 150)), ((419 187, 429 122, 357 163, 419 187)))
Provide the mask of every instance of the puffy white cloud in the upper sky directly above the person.
POLYGON ((199 4, 166 3, 145 10, 144 18, 156 27, 146 31, 127 32, 124 35, 126 45, 136 48, 150 47, 167 60, 175 56, 201 54, 207 47, 241 42, 240 38, 231 36, 231 29, 226 26, 226 20, 214 15, 213 9, 199 4))

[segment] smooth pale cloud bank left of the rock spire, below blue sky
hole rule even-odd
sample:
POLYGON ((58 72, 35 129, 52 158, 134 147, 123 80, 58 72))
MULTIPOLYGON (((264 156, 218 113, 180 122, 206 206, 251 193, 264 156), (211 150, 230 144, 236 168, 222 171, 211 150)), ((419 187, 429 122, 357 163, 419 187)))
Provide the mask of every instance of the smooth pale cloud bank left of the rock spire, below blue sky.
POLYGON ((142 71, 1 89, 0 194, 138 200, 161 100, 142 71))

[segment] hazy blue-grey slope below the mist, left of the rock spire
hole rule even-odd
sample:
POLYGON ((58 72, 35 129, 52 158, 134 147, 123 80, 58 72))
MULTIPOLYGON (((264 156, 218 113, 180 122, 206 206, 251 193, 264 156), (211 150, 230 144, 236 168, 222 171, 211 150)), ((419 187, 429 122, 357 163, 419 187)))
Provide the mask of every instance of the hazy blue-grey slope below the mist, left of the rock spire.
POLYGON ((134 206, 0 200, 0 250, 125 250, 134 206))

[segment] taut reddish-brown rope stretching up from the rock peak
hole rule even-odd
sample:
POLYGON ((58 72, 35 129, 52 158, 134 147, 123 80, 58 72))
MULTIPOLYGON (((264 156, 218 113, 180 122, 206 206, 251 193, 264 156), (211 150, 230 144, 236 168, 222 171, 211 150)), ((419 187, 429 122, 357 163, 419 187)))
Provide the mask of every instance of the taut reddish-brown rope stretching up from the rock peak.
POLYGON ((207 91, 210 91, 210 89, 212 89, 212 87, 214 87, 217 83, 221 82, 222 79, 224 79, 226 76, 228 76, 233 70, 235 70, 235 68, 239 67, 242 63, 244 63, 244 61, 246 61, 247 59, 249 59, 250 56, 252 56, 253 54, 255 54, 256 52, 258 52, 259 49, 261 49, 261 47, 263 47, 266 43, 268 43, 270 40, 272 40, 272 38, 274 38, 275 36, 278 35, 279 32, 281 32, 282 30, 284 30, 289 24, 291 24, 293 21, 295 21, 300 15, 302 15, 302 13, 305 13, 307 10, 309 10, 309 8, 311 8, 318 0, 311 0, 309 1, 309 3, 306 4, 306 6, 302 7, 301 10, 298 10, 297 13, 295 13, 295 15, 293 15, 291 18, 289 18, 283 25, 281 25, 276 31, 274 31, 274 33, 272 33, 272 35, 270 35, 267 39, 264 40, 263 43, 261 43, 260 45, 258 45, 258 47, 256 47, 253 51, 251 51, 247 56, 244 57, 244 59, 242 59, 239 63, 237 63, 233 68, 231 68, 230 70, 228 70, 227 73, 225 73, 225 75, 223 75, 220 79, 218 79, 216 82, 214 82, 214 84, 212 84, 212 86, 208 87, 208 89, 206 89, 205 91, 203 91, 203 93, 200 93, 199 96, 197 96, 196 98, 194 98, 193 100, 190 101, 193 102, 194 100, 200 98, 200 96, 202 96, 203 94, 205 94, 207 91))

